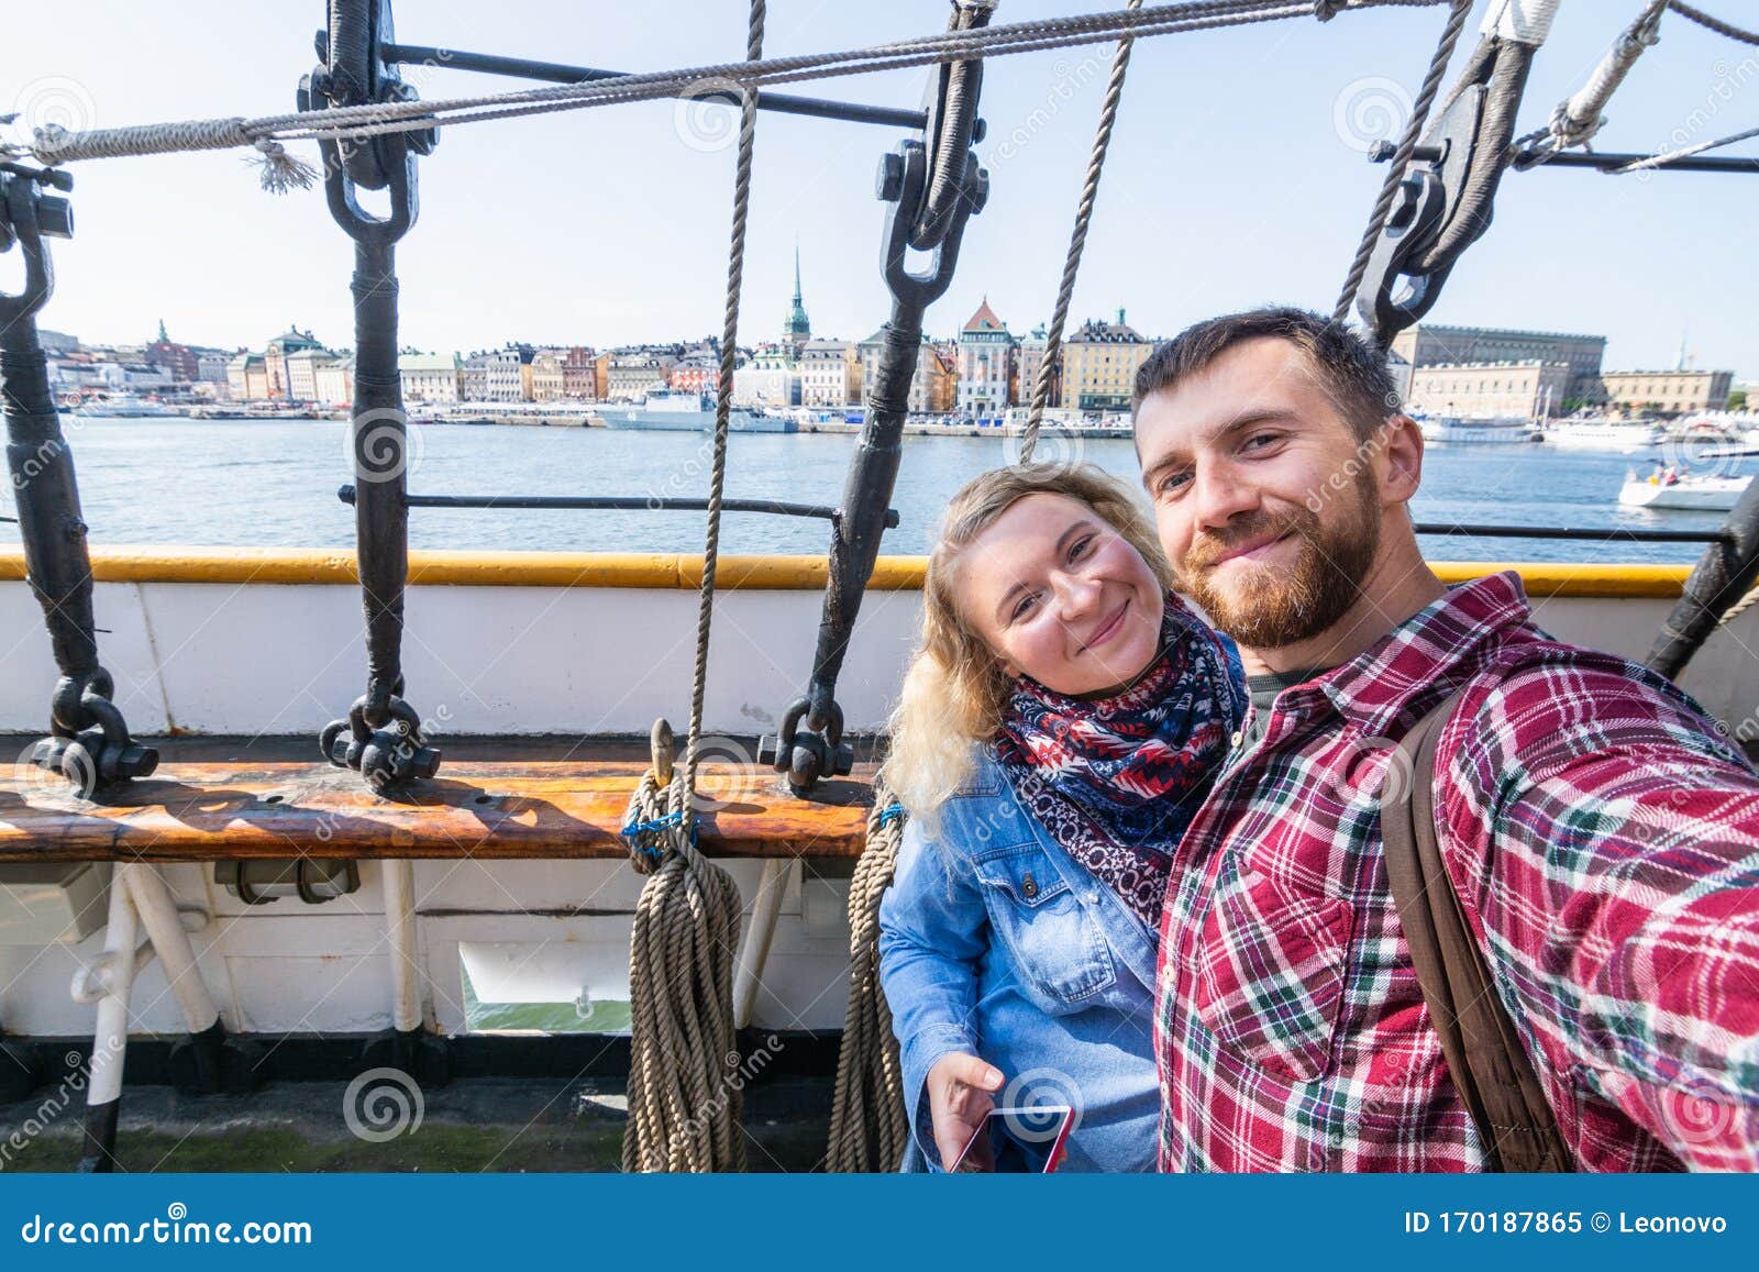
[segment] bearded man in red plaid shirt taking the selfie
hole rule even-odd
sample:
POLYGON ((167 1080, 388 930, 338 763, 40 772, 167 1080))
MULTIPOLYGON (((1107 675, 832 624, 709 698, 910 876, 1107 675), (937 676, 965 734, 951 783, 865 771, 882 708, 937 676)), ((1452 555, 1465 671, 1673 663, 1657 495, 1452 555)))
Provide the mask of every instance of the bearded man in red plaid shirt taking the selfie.
POLYGON ((1397 744, 1460 691, 1441 853, 1569 1165, 1759 1168, 1747 760, 1664 677, 1537 630, 1518 574, 1435 577, 1423 436, 1340 324, 1198 324, 1142 366, 1135 424, 1166 556, 1252 693, 1161 920, 1161 1166, 1492 1165, 1379 820, 1397 744))

